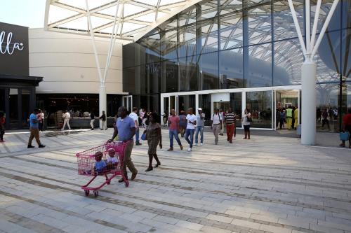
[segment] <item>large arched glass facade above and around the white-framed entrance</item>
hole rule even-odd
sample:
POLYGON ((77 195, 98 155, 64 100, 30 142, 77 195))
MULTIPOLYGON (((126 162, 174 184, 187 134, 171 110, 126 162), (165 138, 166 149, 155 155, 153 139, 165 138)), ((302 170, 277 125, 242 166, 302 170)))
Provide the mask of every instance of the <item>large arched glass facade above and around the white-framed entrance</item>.
MULTIPOLYGON (((304 2, 293 1, 303 35, 304 2)), ((322 1, 318 34, 332 2, 322 1)), ((313 22, 317 0, 311 4, 313 22)), ((326 91, 338 97, 334 106, 319 94, 317 105, 338 108, 339 123, 350 107, 350 6, 349 0, 339 1, 314 57, 317 88, 333 86, 326 91)), ((160 112, 156 103, 161 93, 300 85, 304 57, 287 1, 211 0, 183 10, 136 43, 124 45, 123 59, 124 91, 135 96, 133 106, 152 106, 160 112)), ((269 125, 260 122, 262 127, 269 125)))

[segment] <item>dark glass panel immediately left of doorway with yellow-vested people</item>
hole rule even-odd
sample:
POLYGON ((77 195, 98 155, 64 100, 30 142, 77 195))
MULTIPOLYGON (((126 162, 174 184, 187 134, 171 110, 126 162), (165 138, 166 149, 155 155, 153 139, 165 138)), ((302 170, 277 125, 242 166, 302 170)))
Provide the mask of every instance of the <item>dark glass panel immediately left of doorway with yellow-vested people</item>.
POLYGON ((252 116, 251 127, 272 128, 272 91, 246 92, 246 109, 252 116))

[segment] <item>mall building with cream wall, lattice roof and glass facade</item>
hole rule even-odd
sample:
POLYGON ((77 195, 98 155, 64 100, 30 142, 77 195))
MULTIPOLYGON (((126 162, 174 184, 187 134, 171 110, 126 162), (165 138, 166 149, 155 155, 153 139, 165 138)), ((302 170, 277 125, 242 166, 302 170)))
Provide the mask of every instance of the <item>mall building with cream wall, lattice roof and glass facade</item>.
POLYGON ((43 77, 37 105, 88 99, 86 108, 100 106, 107 115, 119 105, 157 113, 201 107, 207 122, 215 108, 238 115, 248 108, 253 127, 272 130, 277 106, 297 107, 301 122, 302 64, 307 42, 317 41, 310 113, 317 113, 317 130, 338 132, 351 107, 350 6, 350 0, 47 0, 44 29, 29 29, 29 74, 43 77), (324 109, 330 129, 322 129, 324 109))

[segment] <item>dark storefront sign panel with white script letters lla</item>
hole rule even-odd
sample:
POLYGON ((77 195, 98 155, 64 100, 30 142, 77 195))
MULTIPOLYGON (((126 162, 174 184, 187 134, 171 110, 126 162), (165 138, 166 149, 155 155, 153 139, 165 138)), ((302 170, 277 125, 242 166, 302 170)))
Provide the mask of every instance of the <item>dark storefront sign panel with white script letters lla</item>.
POLYGON ((29 76, 27 27, 0 22, 0 74, 29 76))

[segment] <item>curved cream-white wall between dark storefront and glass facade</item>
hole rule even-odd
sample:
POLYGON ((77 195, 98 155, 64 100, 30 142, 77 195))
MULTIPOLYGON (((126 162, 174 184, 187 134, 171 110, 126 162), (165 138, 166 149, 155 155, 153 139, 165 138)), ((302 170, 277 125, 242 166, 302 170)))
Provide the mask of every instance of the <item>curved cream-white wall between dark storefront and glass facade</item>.
MULTIPOLYGON (((110 41, 95 38, 103 75, 110 41)), ((90 36, 29 29, 29 75, 42 76, 38 94, 98 94, 99 77, 90 36)), ((118 41, 106 78, 107 94, 122 94, 122 45, 118 41)))

